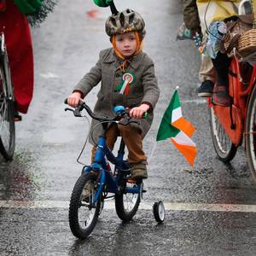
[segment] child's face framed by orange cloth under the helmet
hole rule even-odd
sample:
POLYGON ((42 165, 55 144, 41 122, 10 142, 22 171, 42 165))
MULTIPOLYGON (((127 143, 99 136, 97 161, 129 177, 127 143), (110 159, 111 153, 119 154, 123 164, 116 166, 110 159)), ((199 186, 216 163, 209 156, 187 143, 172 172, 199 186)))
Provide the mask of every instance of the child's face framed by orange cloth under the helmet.
POLYGON ((127 32, 116 35, 116 48, 121 55, 129 57, 133 55, 137 49, 137 40, 134 32, 127 32))

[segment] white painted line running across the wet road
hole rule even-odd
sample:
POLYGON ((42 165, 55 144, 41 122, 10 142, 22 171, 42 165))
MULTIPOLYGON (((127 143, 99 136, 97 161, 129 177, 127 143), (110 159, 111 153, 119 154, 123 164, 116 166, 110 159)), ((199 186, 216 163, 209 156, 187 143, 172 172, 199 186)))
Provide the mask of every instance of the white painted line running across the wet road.
MULTIPOLYGON (((256 205, 193 204, 164 202, 166 211, 198 212, 256 212, 256 205)), ((69 201, 0 201, 0 208, 68 208, 69 201)), ((140 209, 151 210, 153 203, 142 202, 140 209)), ((106 201, 104 208, 114 209, 113 201, 106 201)))

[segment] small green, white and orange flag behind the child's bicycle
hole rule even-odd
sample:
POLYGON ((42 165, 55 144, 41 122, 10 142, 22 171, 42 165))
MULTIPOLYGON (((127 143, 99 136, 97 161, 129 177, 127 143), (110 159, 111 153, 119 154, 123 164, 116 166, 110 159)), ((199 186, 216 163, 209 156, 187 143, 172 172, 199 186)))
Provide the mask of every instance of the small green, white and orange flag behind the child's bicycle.
POLYGON ((193 166, 196 156, 196 145, 190 137, 194 131, 194 126, 183 118, 177 90, 175 90, 172 100, 161 120, 156 141, 162 141, 170 137, 172 143, 188 160, 189 164, 193 166))

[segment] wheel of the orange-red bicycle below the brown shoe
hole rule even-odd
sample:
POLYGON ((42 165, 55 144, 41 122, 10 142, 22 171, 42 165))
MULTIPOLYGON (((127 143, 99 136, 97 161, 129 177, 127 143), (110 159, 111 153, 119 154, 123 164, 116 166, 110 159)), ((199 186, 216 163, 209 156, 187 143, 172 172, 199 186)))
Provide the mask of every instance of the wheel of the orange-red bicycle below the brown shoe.
POLYGON ((213 108, 210 108, 209 112, 213 147, 219 160, 229 162, 235 157, 237 147, 230 141, 213 108))

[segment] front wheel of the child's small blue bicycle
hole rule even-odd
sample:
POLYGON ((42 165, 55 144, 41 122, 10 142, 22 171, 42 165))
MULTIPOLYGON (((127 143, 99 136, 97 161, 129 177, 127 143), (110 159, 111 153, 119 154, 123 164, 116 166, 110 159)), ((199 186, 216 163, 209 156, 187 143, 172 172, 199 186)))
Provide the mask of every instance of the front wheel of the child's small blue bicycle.
POLYGON ((85 239, 96 226, 101 208, 101 201, 92 202, 96 194, 95 175, 84 173, 75 183, 69 204, 69 226, 74 236, 85 239))

